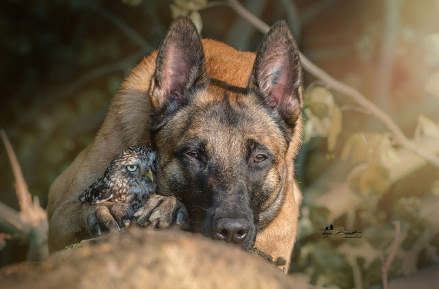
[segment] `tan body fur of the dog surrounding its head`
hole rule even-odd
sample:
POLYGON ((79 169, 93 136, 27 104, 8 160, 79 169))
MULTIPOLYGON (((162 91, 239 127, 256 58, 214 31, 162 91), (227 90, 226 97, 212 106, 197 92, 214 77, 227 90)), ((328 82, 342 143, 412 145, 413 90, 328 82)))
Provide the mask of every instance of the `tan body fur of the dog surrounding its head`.
MULTIPOLYGON (((206 70, 211 79, 245 88, 254 53, 239 52, 214 40, 202 40, 206 70)), ((49 249, 57 251, 68 244, 86 238, 86 217, 93 212, 91 205, 78 201, 78 195, 104 173, 112 158, 132 145, 149 145, 151 78, 157 52, 143 59, 124 81, 112 100, 105 121, 94 142, 54 182, 49 190, 49 249)), ((209 91, 215 90, 215 87, 209 91)), ((207 101, 207 100, 206 100, 207 101)), ((300 190, 294 181, 293 159, 300 142, 301 123, 296 138, 287 152, 287 177, 281 209, 270 225, 257 235, 255 246, 276 258, 283 257, 289 266, 296 238, 300 190)))

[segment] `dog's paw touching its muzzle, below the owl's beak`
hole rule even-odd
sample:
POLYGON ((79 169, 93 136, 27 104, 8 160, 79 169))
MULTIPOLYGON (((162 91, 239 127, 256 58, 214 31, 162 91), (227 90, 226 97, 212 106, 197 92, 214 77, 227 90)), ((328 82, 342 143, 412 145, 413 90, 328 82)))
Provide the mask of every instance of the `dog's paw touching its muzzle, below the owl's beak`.
POLYGON ((163 229, 171 225, 178 225, 185 229, 188 216, 185 205, 176 197, 165 197, 151 194, 145 205, 134 213, 137 225, 163 229))

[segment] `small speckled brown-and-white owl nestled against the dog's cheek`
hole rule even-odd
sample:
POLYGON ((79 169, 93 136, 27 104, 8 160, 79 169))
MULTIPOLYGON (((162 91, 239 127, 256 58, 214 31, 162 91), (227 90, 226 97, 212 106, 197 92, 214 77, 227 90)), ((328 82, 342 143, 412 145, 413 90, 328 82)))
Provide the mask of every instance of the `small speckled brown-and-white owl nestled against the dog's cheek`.
POLYGON ((80 194, 83 203, 128 203, 138 210, 157 188, 156 151, 134 146, 117 155, 91 186, 80 194))

